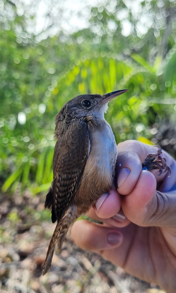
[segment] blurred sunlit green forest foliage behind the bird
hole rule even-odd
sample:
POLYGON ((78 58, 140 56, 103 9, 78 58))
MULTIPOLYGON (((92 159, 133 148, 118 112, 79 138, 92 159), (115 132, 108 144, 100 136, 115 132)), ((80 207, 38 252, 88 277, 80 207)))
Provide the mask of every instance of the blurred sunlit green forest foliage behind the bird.
MULTIPOLYGON (((160 144, 176 156, 176 1, 84 2, 0 0, 2 201, 48 189, 54 116, 80 94, 129 89, 105 115, 116 142, 160 144)), ((14 206, 3 213, 22 221, 14 206)), ((49 221, 49 211, 36 213, 49 221)))

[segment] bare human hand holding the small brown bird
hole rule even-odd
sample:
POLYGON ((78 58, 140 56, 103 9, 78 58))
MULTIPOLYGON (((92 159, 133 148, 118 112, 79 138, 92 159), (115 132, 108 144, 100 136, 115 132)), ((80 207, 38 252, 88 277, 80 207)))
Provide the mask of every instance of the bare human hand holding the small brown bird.
POLYGON ((99 253, 126 272, 176 292, 176 161, 165 151, 169 172, 142 170, 156 147, 129 140, 118 146, 117 192, 102 195, 88 216, 103 225, 79 220, 74 241, 99 253))

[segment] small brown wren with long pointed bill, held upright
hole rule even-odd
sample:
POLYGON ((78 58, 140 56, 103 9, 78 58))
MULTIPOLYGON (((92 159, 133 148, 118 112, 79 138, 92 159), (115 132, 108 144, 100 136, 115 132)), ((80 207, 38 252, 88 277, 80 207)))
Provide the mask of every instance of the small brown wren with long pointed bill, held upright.
POLYGON ((46 195, 45 208, 52 207, 52 222, 57 221, 57 225, 49 243, 43 275, 51 266, 56 242, 61 251, 71 224, 103 193, 115 189, 117 145, 104 113, 109 100, 126 91, 77 96, 55 117, 54 179, 46 195))

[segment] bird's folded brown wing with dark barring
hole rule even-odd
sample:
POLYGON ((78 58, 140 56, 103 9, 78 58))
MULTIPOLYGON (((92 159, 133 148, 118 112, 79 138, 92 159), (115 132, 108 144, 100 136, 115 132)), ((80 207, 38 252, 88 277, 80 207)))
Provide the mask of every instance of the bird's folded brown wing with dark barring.
POLYGON ((81 119, 69 123, 54 149, 53 178, 45 207, 52 205, 52 222, 59 222, 79 186, 90 150, 88 126, 81 119), (51 203, 52 202, 52 203, 51 203))

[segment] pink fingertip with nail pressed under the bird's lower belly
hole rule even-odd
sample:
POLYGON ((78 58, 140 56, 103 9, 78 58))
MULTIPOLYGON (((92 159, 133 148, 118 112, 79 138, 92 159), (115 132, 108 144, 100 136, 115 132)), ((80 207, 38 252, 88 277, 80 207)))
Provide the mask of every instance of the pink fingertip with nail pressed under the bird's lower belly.
POLYGON ((119 212, 121 207, 120 196, 115 190, 102 195, 94 206, 95 213, 99 218, 110 218, 119 212))

